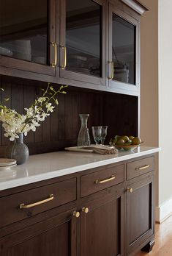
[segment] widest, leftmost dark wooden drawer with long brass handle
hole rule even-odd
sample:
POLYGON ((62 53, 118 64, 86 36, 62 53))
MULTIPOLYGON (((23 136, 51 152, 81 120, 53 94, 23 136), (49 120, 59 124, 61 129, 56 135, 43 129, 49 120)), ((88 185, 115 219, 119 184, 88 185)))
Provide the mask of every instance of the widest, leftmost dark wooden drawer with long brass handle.
POLYGON ((1 197, 0 227, 64 205, 75 199, 76 178, 1 197), (20 209, 21 204, 24 204, 22 209, 20 209))

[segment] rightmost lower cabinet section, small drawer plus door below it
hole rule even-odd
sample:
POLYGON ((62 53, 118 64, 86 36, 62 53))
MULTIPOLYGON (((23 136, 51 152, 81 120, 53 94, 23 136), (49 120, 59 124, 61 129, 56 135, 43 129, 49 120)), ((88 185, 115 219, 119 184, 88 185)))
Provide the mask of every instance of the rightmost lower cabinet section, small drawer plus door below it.
MULTIPOLYGON (((127 163, 126 249, 127 255, 154 245, 154 157, 127 163)), ((147 249, 149 247, 149 249, 147 249)))

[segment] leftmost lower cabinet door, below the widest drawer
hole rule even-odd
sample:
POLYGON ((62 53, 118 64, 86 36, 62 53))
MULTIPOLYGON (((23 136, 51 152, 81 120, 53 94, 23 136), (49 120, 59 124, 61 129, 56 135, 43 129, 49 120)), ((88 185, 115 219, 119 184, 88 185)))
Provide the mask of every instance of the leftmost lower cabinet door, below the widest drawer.
POLYGON ((0 241, 1 256, 75 256, 76 223, 69 210, 0 241))

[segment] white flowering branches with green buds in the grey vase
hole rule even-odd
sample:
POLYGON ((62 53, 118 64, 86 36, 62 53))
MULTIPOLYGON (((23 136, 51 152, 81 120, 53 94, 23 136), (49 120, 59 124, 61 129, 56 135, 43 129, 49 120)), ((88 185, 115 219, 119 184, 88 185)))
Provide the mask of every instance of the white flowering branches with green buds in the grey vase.
MULTIPOLYGON (((35 99, 34 104, 31 107, 25 108, 26 115, 20 115, 15 110, 7 108, 0 102, 0 121, 3 122, 5 137, 10 137, 10 141, 14 141, 18 138, 18 134, 23 132, 26 136, 27 133, 32 130, 36 131, 36 127, 40 127, 40 121, 45 121, 45 118, 53 112, 55 108, 51 101, 56 105, 59 104, 56 99, 57 93, 66 93, 63 89, 67 85, 62 85, 59 90, 54 90, 53 86, 48 84, 46 90, 42 89, 43 94, 41 97, 35 99)), ((4 90, 1 88, 1 90, 4 90)), ((4 99, 7 102, 9 99, 4 99)))

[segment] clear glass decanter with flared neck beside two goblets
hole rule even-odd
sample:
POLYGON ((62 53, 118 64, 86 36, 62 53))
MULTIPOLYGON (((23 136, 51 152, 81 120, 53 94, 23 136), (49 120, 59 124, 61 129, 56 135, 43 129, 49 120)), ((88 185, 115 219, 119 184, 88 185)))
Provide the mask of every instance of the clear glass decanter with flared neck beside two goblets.
POLYGON ((81 119, 81 128, 78 133, 77 146, 89 146, 90 137, 89 137, 89 129, 87 127, 89 114, 79 114, 79 116, 81 119))

